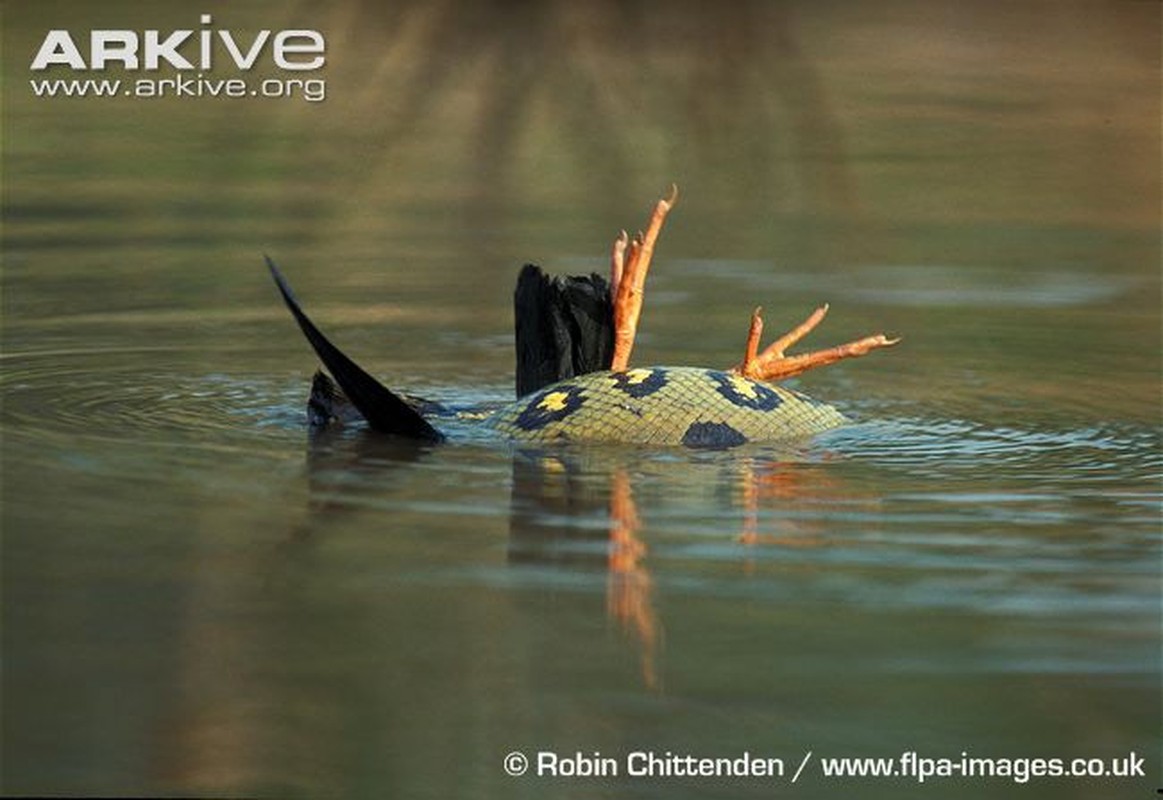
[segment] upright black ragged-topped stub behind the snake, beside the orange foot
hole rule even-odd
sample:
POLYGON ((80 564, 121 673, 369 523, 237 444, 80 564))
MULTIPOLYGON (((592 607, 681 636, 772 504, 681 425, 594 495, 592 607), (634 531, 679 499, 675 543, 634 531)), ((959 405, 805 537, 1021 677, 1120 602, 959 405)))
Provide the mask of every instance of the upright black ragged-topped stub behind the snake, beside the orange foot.
POLYGON ((601 276, 549 277, 526 264, 513 294, 516 394, 608 370, 614 358, 614 306, 601 276))

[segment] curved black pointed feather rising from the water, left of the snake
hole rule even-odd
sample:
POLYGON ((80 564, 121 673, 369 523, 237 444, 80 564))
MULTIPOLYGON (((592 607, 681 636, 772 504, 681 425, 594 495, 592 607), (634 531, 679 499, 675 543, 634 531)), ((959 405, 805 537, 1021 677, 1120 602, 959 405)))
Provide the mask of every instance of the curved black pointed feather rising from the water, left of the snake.
POLYGON ((351 403, 359 410, 368 424, 374 430, 408 438, 423 440, 426 442, 442 442, 444 435, 433 428, 420 416, 407 402, 401 400, 391 390, 363 371, 358 364, 348 358, 331 344, 319 328, 304 314, 294 299, 294 293, 287 284, 279 267, 266 257, 266 266, 271 270, 271 276, 283 294, 283 300, 294 315, 299 328, 307 336, 311 347, 315 349, 323 365, 338 383, 343 393, 348 395, 351 403))

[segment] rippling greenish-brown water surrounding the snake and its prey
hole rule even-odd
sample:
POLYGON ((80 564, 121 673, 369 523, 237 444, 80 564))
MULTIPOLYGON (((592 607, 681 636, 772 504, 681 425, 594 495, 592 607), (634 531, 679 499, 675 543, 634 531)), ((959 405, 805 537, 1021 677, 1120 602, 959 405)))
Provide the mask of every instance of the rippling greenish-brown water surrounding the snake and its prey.
POLYGON ((219 13, 334 52, 326 102, 234 106, 31 98, 21 53, 104 17, 6 8, 3 791, 1161 785, 1157 8, 643 6, 637 49, 608 14, 483 8, 219 13), (636 360, 726 366, 755 305, 776 330, 827 300, 808 343, 904 337, 793 381, 854 426, 708 452, 306 429, 264 252, 388 385, 500 400, 522 260, 601 269, 670 180, 636 360), (644 750, 786 774, 502 769, 644 750), (1147 774, 821 773, 906 751, 1147 774))

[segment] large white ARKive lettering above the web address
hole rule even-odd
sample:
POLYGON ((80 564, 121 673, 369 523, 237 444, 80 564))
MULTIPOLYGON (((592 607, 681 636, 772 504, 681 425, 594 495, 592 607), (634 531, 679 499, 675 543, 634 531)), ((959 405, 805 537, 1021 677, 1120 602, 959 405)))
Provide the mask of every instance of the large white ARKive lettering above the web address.
POLYGON ((317 30, 259 30, 254 37, 236 36, 229 30, 213 30, 209 14, 201 15, 202 29, 172 30, 91 30, 87 48, 78 45, 67 30, 53 29, 44 36, 30 69, 48 70, 67 66, 71 70, 104 70, 120 64, 124 70, 155 71, 212 70, 233 66, 250 70, 264 57, 280 70, 307 71, 322 67, 327 60, 327 42, 317 30), (187 57, 188 43, 197 42, 197 53, 187 57), (186 49, 186 53, 183 52, 186 49), (87 57, 86 57, 87 49, 87 57), (191 60, 193 58, 194 60, 191 60), (223 63, 226 62, 226 63, 223 63))

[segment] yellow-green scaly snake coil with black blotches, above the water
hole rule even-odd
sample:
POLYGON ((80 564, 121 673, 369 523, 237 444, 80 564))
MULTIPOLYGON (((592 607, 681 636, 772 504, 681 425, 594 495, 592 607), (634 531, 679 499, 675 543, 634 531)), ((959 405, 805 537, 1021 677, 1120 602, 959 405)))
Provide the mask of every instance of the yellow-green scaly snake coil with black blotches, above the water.
POLYGON ((590 372, 483 420, 526 442, 711 448, 807 436, 844 422, 832 406, 792 390, 691 366, 590 372))

